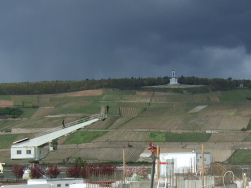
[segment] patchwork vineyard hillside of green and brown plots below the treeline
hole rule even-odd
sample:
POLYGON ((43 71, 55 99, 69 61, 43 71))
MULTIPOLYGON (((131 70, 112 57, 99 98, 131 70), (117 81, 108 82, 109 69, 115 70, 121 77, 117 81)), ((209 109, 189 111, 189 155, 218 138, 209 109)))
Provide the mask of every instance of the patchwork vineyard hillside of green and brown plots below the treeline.
MULTIPOLYGON (((100 113, 109 106, 108 118, 71 134, 59 142, 44 162, 139 160, 147 142, 160 145, 161 152, 206 151, 215 161, 238 158, 250 152, 250 89, 192 94, 171 91, 85 90, 50 95, 2 95, 0 106, 19 106, 16 119, 0 119, 0 161, 9 159, 13 141, 100 113), (10 132, 11 131, 11 132, 10 132), (244 152, 245 153, 245 152, 244 152)), ((141 159, 144 160, 144 159, 141 159)), ((251 161, 245 161, 251 162, 251 161)))

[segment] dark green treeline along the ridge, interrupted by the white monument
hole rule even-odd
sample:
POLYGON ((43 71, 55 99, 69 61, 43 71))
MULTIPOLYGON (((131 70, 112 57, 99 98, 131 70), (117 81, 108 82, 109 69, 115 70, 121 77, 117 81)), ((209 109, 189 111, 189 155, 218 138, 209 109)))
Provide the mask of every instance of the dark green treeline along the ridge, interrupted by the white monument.
MULTIPOLYGON (((0 83, 0 95, 36 95, 36 94, 57 94, 89 89, 121 89, 138 90, 145 86, 165 85, 169 83, 169 77, 158 78, 120 78, 82 81, 42 81, 42 82, 20 82, 0 83)), ((205 85, 211 91, 224 91, 235 89, 239 86, 251 88, 250 80, 233 80, 232 78, 178 78, 180 84, 205 85)))

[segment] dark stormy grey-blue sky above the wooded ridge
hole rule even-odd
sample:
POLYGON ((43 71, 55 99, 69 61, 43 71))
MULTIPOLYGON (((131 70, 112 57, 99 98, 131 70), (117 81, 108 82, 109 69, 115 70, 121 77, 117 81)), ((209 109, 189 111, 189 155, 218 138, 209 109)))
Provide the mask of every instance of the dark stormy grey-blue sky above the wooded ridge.
POLYGON ((172 70, 251 79, 251 1, 0 1, 0 83, 172 70))

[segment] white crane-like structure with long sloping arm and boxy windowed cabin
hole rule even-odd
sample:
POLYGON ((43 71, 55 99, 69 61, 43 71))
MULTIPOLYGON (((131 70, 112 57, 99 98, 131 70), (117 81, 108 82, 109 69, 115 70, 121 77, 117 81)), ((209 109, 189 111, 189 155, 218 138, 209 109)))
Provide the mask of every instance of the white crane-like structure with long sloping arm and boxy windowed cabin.
POLYGON ((24 138, 13 142, 11 146, 11 159, 26 159, 33 162, 39 161, 45 158, 50 151, 57 150, 57 140, 59 138, 99 120, 104 120, 106 117, 107 115, 105 113, 101 113, 68 124, 64 124, 63 121, 62 126, 40 133, 33 139, 24 138), (49 148, 45 148, 46 145, 49 145, 49 148))

